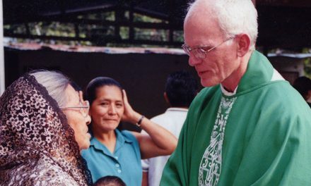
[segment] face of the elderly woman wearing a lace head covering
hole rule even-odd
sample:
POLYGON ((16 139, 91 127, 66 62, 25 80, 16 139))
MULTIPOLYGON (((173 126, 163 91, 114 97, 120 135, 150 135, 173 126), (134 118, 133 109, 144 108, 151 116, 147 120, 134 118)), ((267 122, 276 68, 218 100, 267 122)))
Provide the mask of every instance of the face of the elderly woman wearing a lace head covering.
MULTIPOLYGON (((66 107, 74 107, 74 106, 81 106, 83 103, 83 98, 79 96, 78 92, 69 85, 66 90, 65 94, 67 97, 66 100, 66 107)), ((69 108, 69 109, 62 109, 66 118, 68 120, 69 125, 74 130, 74 137, 76 142, 81 149, 88 149, 90 146, 90 134, 88 133, 88 124, 90 124, 90 116, 88 114, 81 113, 81 110, 78 108, 69 108)))

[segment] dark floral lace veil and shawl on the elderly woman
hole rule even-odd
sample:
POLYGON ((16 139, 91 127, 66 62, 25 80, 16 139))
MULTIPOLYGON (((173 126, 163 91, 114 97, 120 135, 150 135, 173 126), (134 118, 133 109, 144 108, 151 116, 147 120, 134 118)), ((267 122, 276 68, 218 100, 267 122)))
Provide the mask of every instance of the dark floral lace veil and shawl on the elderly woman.
POLYGON ((91 185, 74 130, 32 75, 0 97, 0 185, 91 185))

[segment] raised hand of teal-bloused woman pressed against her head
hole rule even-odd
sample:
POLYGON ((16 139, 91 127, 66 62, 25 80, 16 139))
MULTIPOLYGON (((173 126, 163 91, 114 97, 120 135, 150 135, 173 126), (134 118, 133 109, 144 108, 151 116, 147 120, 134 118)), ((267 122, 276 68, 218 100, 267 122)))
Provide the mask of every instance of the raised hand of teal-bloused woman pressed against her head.
POLYGON ((124 113, 122 116, 122 121, 135 124, 139 120, 141 115, 131 108, 131 105, 129 104, 129 101, 127 99, 127 92, 125 92, 124 89, 122 89, 122 93, 123 93, 123 105, 124 105, 124 113))

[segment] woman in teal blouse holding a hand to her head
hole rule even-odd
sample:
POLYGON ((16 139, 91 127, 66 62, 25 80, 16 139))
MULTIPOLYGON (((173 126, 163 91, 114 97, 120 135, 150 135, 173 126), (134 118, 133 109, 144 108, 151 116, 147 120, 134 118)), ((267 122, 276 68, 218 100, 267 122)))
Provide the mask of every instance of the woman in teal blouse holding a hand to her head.
POLYGON ((121 85, 110 77, 96 77, 86 88, 90 102, 90 148, 82 151, 93 182, 115 175, 127 185, 141 185, 141 159, 171 154, 177 139, 134 111, 121 85), (120 120, 138 125, 148 135, 117 129, 120 120))

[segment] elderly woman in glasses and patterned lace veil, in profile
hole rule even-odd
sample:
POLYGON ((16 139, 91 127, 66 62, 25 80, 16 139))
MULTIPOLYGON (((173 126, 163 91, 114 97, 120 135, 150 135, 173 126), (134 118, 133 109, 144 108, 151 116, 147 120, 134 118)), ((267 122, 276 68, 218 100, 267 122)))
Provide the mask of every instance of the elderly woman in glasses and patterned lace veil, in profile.
POLYGON ((26 74, 0 97, 0 185, 91 185, 88 101, 61 73, 26 74))

